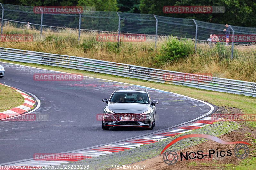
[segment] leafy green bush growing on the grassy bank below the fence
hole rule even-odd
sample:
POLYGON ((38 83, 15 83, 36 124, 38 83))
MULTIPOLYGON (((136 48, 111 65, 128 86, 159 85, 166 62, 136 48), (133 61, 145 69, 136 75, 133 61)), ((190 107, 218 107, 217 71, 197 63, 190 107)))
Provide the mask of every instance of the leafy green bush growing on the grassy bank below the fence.
POLYGON ((178 40, 174 37, 169 37, 162 45, 159 53, 156 56, 156 63, 163 64, 165 62, 177 61, 180 58, 185 58, 194 50, 194 43, 191 40, 178 40))

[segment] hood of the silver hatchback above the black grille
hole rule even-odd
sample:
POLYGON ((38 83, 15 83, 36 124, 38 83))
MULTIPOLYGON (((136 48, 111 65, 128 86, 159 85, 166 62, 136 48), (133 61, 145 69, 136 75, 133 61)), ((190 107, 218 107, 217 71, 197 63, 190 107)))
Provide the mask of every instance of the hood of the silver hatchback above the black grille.
MULTIPOLYGON (((148 111, 150 109, 150 104, 142 104, 142 103, 108 103, 108 109, 113 112, 120 112, 121 110, 131 110, 131 112, 136 111, 148 111)), ((121 112, 122 112, 121 111, 121 112)))

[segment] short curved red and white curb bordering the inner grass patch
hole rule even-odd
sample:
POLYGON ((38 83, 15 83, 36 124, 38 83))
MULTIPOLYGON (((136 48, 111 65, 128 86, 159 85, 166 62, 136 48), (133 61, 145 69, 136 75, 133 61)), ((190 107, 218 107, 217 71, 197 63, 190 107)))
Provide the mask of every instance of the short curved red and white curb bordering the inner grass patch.
MULTIPOLYGON (((2 83, 0 83, 0 84, 4 85, 2 83)), ((10 87, 8 85, 5 85, 5 86, 10 87)), ((28 112, 35 105, 35 100, 31 96, 29 96, 25 92, 22 92, 22 91, 14 88, 14 87, 11 87, 11 88, 15 89, 17 92, 19 92, 24 97, 24 103, 22 105, 18 106, 18 107, 14 107, 10 110, 0 112, 0 120, 1 119, 6 119, 6 118, 9 118, 9 117, 13 117, 13 116, 17 116, 17 115, 23 114, 25 112, 28 112)))

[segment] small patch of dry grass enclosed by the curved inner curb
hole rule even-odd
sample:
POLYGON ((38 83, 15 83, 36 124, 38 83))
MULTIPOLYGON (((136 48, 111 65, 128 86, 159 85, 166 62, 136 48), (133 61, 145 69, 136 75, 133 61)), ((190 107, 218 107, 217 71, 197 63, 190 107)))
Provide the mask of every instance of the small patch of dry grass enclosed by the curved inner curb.
POLYGON ((19 92, 1 84, 0 99, 0 112, 20 106, 24 102, 24 98, 19 92))

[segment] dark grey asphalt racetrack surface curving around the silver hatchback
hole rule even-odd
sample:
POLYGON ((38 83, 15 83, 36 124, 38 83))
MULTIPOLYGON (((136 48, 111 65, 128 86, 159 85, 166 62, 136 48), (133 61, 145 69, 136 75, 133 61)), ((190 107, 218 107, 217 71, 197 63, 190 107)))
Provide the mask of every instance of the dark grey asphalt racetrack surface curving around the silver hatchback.
MULTIPOLYGON (((93 147, 155 132, 195 119, 210 111, 210 106, 177 94, 97 78, 82 81, 34 81, 35 73, 58 73, 0 62, 5 77, 0 83, 34 94, 41 106, 34 114, 48 116, 44 121, 0 121, 0 165, 33 158, 35 153, 60 153, 93 147), (113 91, 147 90, 156 105, 156 126, 110 128, 102 130, 96 115, 103 113, 113 91)), ((171 86, 170 86, 170 90, 171 86)))

